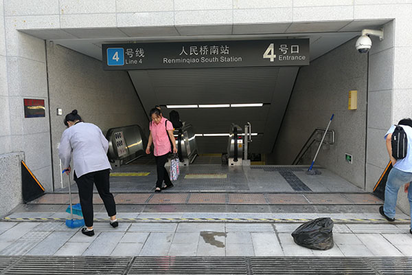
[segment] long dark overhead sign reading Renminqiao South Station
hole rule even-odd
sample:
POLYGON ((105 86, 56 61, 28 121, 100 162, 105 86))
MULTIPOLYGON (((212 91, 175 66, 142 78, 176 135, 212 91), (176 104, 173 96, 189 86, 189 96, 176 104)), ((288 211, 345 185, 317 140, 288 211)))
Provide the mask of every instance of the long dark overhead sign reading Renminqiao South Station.
POLYGON ((103 69, 187 69, 309 65, 309 39, 102 45, 103 69))

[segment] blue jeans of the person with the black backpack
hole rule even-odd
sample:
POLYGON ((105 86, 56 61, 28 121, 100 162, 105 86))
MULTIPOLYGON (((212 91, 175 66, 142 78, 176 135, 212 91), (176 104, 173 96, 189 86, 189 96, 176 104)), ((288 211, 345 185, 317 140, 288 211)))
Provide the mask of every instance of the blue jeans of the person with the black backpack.
MULTIPOLYGON (((389 172, 385 188, 385 204, 383 205, 383 211, 389 218, 395 218, 396 199, 398 199, 399 188, 411 181, 412 173, 404 172, 397 168, 392 168, 391 172, 389 172)), ((408 199, 412 217, 412 186, 409 186, 408 199)))

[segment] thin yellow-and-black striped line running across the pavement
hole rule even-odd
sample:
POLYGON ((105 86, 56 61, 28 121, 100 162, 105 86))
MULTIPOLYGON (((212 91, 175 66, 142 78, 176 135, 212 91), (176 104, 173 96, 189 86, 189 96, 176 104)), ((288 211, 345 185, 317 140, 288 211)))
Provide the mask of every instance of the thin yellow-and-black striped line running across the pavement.
MULTIPOLYGON (((104 219, 93 219, 93 221, 108 221, 108 218, 104 219)), ((141 221, 227 221, 227 222, 269 222, 269 223, 301 223, 306 221, 311 221, 312 219, 279 219, 279 218, 117 218, 118 221, 130 221, 130 222, 141 222, 141 221)), ((11 218, 5 217, 0 221, 66 221, 64 218, 11 218)), ((385 223, 385 224, 407 224, 411 222, 411 219, 396 219, 393 223, 388 223, 386 219, 332 219, 334 223, 385 223)))

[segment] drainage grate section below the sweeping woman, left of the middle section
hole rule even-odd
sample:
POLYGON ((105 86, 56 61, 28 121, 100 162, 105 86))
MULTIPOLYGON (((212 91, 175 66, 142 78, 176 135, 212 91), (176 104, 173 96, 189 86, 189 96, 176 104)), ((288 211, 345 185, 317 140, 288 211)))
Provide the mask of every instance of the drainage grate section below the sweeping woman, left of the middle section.
POLYGON ((4 274, 124 274, 132 258, 24 256, 4 274))

